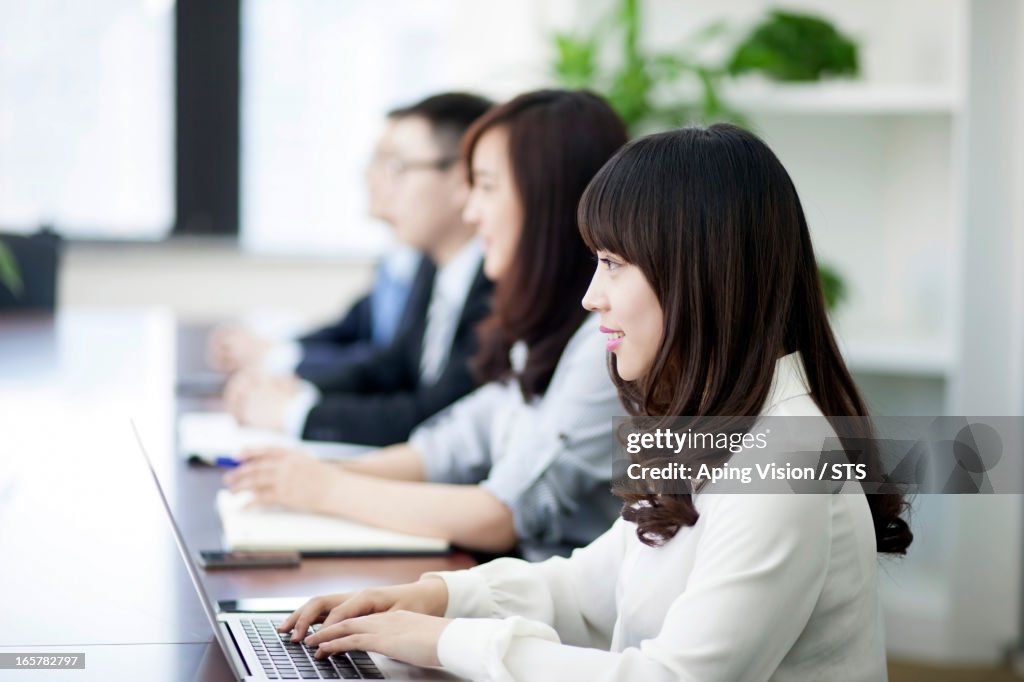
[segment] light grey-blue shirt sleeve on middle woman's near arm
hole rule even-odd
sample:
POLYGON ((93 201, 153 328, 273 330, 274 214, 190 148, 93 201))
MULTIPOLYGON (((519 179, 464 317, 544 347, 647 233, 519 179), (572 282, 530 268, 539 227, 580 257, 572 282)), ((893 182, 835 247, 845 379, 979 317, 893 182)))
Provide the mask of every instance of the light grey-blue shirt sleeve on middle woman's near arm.
POLYGON ((512 510, 521 541, 586 544, 620 503, 609 493, 612 418, 625 414, 596 316, 570 339, 544 397, 512 427, 481 485, 512 510))

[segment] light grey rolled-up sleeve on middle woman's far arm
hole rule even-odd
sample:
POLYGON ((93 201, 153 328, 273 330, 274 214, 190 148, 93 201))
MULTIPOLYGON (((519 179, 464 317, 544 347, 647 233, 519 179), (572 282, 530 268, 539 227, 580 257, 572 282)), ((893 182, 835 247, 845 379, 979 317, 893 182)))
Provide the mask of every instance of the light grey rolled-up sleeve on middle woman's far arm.
POLYGON ((423 460, 429 481, 479 483, 490 469, 490 433, 495 415, 509 386, 485 384, 419 426, 409 438, 423 460))

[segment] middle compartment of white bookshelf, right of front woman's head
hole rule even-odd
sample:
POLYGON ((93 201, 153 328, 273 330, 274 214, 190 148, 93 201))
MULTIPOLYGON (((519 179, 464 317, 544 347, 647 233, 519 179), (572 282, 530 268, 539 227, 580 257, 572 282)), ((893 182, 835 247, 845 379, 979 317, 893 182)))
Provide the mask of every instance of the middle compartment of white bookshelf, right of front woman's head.
MULTIPOLYGON (((742 111, 792 174, 819 261, 846 282, 834 322, 851 369, 945 382, 955 369, 958 98, 912 86, 837 92, 780 88, 742 111)), ((936 401, 947 409, 945 395, 918 400, 936 401)))

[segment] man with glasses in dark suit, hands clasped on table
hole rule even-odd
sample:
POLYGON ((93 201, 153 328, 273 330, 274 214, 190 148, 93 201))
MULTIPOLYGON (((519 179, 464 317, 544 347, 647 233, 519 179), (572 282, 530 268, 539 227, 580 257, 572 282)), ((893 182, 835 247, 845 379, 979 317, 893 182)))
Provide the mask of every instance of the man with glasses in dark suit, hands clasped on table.
POLYGON ((458 145, 485 106, 449 94, 391 114, 391 156, 380 160, 391 183, 389 219, 397 238, 430 260, 416 274, 394 342, 312 381, 240 374, 225 390, 240 423, 387 445, 475 387, 468 360, 492 285, 473 229, 462 220, 469 187, 458 145))

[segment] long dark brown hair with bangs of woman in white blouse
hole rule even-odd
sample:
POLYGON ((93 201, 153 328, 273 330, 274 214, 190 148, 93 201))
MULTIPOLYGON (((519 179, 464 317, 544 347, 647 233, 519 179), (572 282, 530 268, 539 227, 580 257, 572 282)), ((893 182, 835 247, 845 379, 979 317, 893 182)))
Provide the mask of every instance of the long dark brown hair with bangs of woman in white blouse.
MULTIPOLYGON (((867 409, 833 336, 807 221, 788 173, 756 135, 729 124, 637 139, 595 176, 579 212, 584 241, 641 269, 665 314, 647 374, 611 374, 634 416, 729 417, 749 427, 775 363, 800 351, 810 395, 826 418, 867 409)), ((864 420, 866 422, 866 420, 864 420)), ((866 428, 866 427, 865 427, 866 428)), ((870 433, 844 442, 878 471, 870 433)), ((879 552, 913 539, 895 488, 867 495, 879 552)), ((693 525, 690 495, 616 488, 623 516, 656 546, 693 525)))

